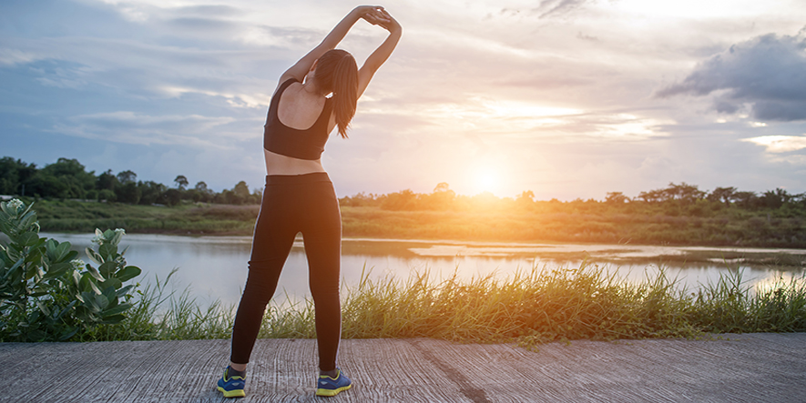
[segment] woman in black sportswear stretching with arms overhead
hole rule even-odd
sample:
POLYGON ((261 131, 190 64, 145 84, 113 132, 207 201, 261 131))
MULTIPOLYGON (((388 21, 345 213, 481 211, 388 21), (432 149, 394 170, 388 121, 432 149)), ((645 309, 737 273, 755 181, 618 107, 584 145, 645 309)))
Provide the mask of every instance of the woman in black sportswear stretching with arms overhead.
POLYGON ((336 364, 342 334, 342 218, 332 183, 321 166, 321 152, 333 128, 338 126, 339 134, 347 137, 358 98, 392 54, 401 33, 401 26, 383 7, 356 7, 280 77, 264 126, 268 175, 252 239, 249 277, 232 329, 230 365, 218 382, 226 398, 245 396, 246 366, 260 322, 298 232, 308 257, 316 312, 320 368, 316 395, 335 396, 352 386, 336 364), (361 69, 352 55, 334 49, 359 19, 389 31, 361 69))

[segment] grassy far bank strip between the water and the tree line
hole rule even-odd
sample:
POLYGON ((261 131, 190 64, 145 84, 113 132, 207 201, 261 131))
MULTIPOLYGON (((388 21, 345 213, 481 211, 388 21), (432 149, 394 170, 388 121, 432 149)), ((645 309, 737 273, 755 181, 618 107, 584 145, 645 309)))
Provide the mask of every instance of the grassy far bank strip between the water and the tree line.
MULTIPOLYGON (((47 232, 250 236, 258 206, 188 204, 132 206, 78 201, 36 202, 47 232)), ((562 242, 710 247, 806 248, 804 217, 726 208, 706 216, 669 215, 662 209, 397 211, 342 207, 344 237, 562 242)), ((697 210, 699 211, 699 210, 697 210)))

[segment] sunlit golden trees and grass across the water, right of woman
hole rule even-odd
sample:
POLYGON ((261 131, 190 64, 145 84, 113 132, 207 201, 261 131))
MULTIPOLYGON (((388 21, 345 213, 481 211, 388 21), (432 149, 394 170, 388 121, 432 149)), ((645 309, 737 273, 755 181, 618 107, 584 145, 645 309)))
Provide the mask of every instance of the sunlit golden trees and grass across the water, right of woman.
POLYGON ((362 237, 487 241, 555 241, 649 245, 806 247, 806 195, 688 184, 611 192, 603 201, 535 200, 489 193, 456 195, 447 184, 430 194, 411 190, 343 197, 344 234, 362 237))

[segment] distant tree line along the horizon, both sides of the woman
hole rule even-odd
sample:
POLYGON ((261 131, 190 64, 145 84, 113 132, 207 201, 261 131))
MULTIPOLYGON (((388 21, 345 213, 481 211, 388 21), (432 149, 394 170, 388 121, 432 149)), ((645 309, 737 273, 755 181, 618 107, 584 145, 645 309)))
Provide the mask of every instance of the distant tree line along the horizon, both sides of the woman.
MULTIPOLYGON (((138 181, 137 174, 111 170, 96 175, 87 172, 76 159, 59 158, 42 168, 9 156, 0 158, 0 195, 34 196, 59 199, 82 199, 127 204, 174 206, 182 201, 229 205, 260 204, 260 190, 250 192, 240 181, 232 189, 215 192, 203 181, 189 186, 186 176, 174 179, 174 186, 154 181, 138 181)), ((432 193, 415 193, 411 189, 376 195, 359 193, 339 199, 342 207, 380 207, 397 211, 474 211, 527 210, 533 212, 590 211, 608 209, 623 213, 662 213, 670 216, 709 216, 725 208, 747 211, 775 210, 777 216, 806 216, 806 193, 791 194, 776 188, 764 192, 739 190, 734 186, 716 187, 711 191, 684 183, 640 192, 629 197, 622 192, 608 192, 604 200, 576 199, 560 202, 536 200, 526 190, 515 197, 498 197, 489 192, 475 196, 457 195, 447 183, 434 187, 432 193)))

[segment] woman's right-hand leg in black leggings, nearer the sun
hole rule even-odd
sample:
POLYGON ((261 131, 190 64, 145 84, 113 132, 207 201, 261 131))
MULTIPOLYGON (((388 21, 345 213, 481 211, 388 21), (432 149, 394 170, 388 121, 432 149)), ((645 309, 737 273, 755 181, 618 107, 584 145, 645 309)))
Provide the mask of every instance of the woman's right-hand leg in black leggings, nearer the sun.
POLYGON ((316 310, 316 338, 319 368, 336 368, 342 338, 342 307, 339 299, 342 257, 342 217, 339 200, 330 182, 311 186, 306 197, 308 214, 302 227, 308 257, 309 283, 316 310))

